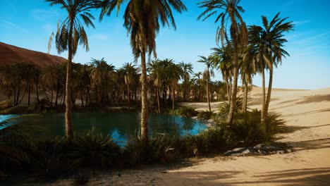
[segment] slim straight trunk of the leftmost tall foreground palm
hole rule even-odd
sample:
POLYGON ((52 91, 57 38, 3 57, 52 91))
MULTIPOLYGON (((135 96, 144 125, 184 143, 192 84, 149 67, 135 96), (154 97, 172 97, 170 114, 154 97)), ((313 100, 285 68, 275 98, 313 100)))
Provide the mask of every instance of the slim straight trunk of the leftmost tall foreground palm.
POLYGON ((68 66, 66 68, 66 113, 65 113, 65 121, 66 121, 66 137, 73 137, 72 130, 72 101, 71 101, 71 78, 72 78, 72 30, 73 30, 73 22, 70 23, 70 30, 68 35, 68 66))

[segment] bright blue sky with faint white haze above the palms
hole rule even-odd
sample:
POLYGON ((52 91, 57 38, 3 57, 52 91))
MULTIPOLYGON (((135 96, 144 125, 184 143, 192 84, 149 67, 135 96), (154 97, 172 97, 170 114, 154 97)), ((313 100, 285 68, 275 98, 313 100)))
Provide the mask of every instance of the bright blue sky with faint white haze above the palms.
MULTIPOLYGON (((197 20, 202 9, 197 8, 200 0, 183 0, 188 11, 175 14, 177 30, 164 27, 157 36, 159 58, 173 58, 177 63, 193 63, 194 71, 202 71, 204 66, 197 63, 198 56, 211 54, 216 46, 215 32, 218 26, 214 17, 202 22, 197 20)), ((295 89, 319 89, 330 87, 330 14, 328 0, 242 0, 247 25, 261 25, 261 16, 269 20, 276 13, 289 17, 295 23, 295 30, 286 35, 286 51, 291 56, 274 72, 274 87, 295 89)), ((105 58, 108 63, 120 68, 125 62, 132 62, 129 38, 123 27, 123 9, 116 17, 106 17, 96 28, 87 29, 90 51, 80 47, 75 62, 88 63, 91 58, 105 58)), ((98 17, 99 11, 93 12, 98 17)), ((59 6, 49 6, 42 0, 0 0, 0 42, 27 49, 47 52, 49 35, 56 30, 59 19, 66 18, 66 12, 59 6)), ((51 54, 57 54, 55 47, 51 54)), ((66 53, 60 56, 66 57, 66 53)), ((216 80, 221 74, 216 73, 216 80)), ((261 86, 261 78, 256 75, 254 85, 261 86)))

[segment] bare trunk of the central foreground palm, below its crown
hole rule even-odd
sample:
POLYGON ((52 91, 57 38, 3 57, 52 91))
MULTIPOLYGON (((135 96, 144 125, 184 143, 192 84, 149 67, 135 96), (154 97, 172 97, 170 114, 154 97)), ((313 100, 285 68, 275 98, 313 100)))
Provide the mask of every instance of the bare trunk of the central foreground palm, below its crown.
POLYGON ((147 68, 145 51, 141 54, 141 139, 148 140, 148 99, 147 99, 147 68))

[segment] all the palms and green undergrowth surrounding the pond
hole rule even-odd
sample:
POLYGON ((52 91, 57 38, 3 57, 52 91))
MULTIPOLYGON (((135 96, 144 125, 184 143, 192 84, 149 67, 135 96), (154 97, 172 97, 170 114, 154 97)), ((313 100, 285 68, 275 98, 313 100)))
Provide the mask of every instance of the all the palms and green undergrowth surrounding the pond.
MULTIPOLYGON (((55 38, 59 53, 68 51, 68 63, 37 69, 18 61, 1 68, 0 86, 7 101, 1 102, 0 108, 2 114, 63 111, 65 108, 66 137, 36 139, 29 137, 28 129, 18 125, 0 130, 0 176, 33 173, 48 178, 74 173, 81 168, 94 170, 166 163, 272 141, 277 133, 285 131, 280 116, 268 113, 274 67, 281 64, 282 57, 289 56, 283 49, 287 42, 283 33, 293 30, 293 23, 286 22, 287 18, 279 18, 279 13, 270 22, 262 16, 262 26, 247 26, 240 15, 244 12, 239 6, 240 0, 198 3, 204 8, 198 19, 206 20, 217 14, 215 22, 221 24, 216 30, 218 47, 212 49, 210 56, 200 56, 198 61, 206 65, 204 73, 194 73, 192 63, 176 64, 170 58, 157 58, 156 36, 160 27, 168 25, 175 29, 173 11, 186 11, 180 0, 130 0, 125 4, 124 27, 130 36, 135 61, 140 58, 141 64, 125 63, 121 68, 106 63, 104 58, 92 58, 91 63, 85 65, 72 61, 79 44, 88 50, 82 23, 94 27, 94 16, 90 11, 100 8, 102 20, 104 16, 110 16, 114 8, 119 10, 125 1, 47 2, 68 11, 68 17, 59 23, 56 34, 52 33, 49 40, 50 46, 55 38), (221 70, 224 82, 210 80, 213 69, 221 70), (265 70, 269 70, 267 97, 265 70), (252 85, 252 76, 258 73, 262 75, 262 110, 248 111, 247 92, 252 85), (238 98, 239 75, 243 82, 243 101, 238 98), (28 106, 22 106, 26 93, 28 106), (31 103, 33 93, 35 101, 31 103), (188 107, 175 109, 176 100, 208 101, 209 111, 198 113, 188 107), (227 102, 220 106, 219 113, 212 113, 210 101, 227 102), (126 105, 128 111, 141 108, 141 130, 138 137, 131 137, 124 149, 109 136, 92 131, 73 135, 73 110, 109 111, 108 106, 126 105), (169 111, 178 116, 214 118, 218 124, 199 135, 149 138, 147 114, 148 109, 155 108, 158 113, 169 111)), ((83 175, 79 178, 82 182, 87 179, 83 175)))

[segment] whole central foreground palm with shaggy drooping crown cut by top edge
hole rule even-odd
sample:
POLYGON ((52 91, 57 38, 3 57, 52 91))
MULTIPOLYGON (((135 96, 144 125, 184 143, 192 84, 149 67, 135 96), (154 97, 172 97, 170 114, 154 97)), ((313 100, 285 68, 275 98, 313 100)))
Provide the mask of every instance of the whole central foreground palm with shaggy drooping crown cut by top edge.
MULTIPOLYGON (((121 6, 123 0, 105 1, 102 8, 102 16, 109 15, 117 6, 121 6)), ((173 18, 171 7, 178 13, 187 8, 181 0, 130 0, 124 13, 124 26, 130 34, 130 45, 132 46, 135 61, 141 58, 141 138, 148 139, 148 105, 147 105, 147 68, 146 54, 157 58, 156 35, 160 26, 170 25, 176 29, 176 22, 173 18), (160 21, 160 23, 159 23, 160 21)), ((102 17, 101 16, 101 17, 102 17)))

